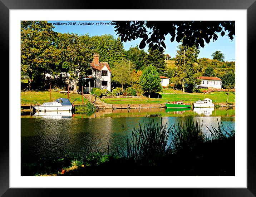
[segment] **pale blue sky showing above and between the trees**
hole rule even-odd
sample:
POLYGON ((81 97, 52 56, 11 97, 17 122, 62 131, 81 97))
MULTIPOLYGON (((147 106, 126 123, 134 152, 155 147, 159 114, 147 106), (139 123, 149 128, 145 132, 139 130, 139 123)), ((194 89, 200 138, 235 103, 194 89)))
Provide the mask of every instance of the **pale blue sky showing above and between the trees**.
MULTIPOLYGON (((48 21, 49 23, 67 23, 67 25, 53 25, 55 28, 53 29, 59 33, 76 33, 79 35, 89 34, 90 36, 95 35, 104 35, 110 34, 113 35, 114 38, 118 38, 118 35, 114 31, 114 25, 109 25, 106 23, 110 23, 111 21, 48 21), (93 25, 78 25, 78 23, 94 23, 93 25), (68 25, 70 23, 71 25, 68 25), (76 25, 74 23, 77 23, 76 25), (99 25, 96 25, 96 24, 99 25), (102 23, 102 24, 100 24, 102 23)), ((226 61, 235 61, 235 38, 230 40, 227 35, 221 36, 218 35, 218 40, 213 42, 210 41, 209 44, 205 43, 204 48, 200 48, 200 53, 198 58, 209 58, 212 59, 211 54, 215 51, 221 51, 226 61)), ((171 58, 176 56, 177 46, 181 43, 177 43, 176 41, 169 41, 171 38, 170 35, 166 36, 165 44, 166 49, 164 50, 165 54, 171 55, 171 58)), ((139 45, 142 39, 137 39, 133 41, 123 42, 124 49, 128 50, 131 46, 139 45)), ((145 51, 148 50, 148 45, 144 48, 145 51)))

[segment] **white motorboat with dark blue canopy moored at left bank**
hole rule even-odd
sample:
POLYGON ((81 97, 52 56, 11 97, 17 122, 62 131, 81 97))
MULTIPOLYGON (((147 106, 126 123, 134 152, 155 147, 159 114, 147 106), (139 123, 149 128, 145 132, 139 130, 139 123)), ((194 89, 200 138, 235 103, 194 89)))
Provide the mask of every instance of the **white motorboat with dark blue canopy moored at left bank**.
POLYGON ((36 110, 40 111, 71 111, 72 104, 67 98, 59 98, 53 102, 43 103, 42 105, 34 105, 36 110))

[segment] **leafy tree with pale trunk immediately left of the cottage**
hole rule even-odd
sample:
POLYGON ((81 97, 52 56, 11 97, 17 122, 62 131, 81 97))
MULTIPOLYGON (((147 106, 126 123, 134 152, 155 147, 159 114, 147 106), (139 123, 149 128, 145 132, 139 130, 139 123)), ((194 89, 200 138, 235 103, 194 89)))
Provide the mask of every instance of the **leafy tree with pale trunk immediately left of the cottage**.
POLYGON ((62 34, 59 43, 63 56, 63 68, 68 70, 73 80, 74 92, 77 93, 77 83, 83 74, 90 69, 93 60, 92 45, 89 36, 79 37, 77 34, 62 34))

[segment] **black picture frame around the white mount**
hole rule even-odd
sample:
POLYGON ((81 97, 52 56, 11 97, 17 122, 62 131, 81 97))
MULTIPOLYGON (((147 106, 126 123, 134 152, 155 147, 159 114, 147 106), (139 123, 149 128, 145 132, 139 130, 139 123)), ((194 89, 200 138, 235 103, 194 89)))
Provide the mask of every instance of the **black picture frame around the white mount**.
MULTIPOLYGON (((6 60, 5 64, 9 65, 9 10, 10 9, 243 9, 247 10, 247 65, 237 65, 243 66, 245 69, 250 68, 250 72, 247 72, 247 79, 243 83, 248 84, 247 92, 253 91, 252 85, 248 83, 248 79, 253 78, 255 73, 255 63, 254 60, 254 45, 256 36, 256 2, 255 0, 158 0, 158 1, 128 1, 127 5, 120 6, 119 1, 105 1, 95 3, 95 1, 86 0, 0 0, 0 38, 1 38, 1 60, 6 60)), ((9 67, 2 66, 1 71, 5 76, 5 89, 9 89, 9 67)), ((3 83, 3 82, 2 82, 3 83)), ((9 92, 8 92, 9 93, 9 92)), ((0 98, 1 103, 9 103, 9 97, 7 91, 5 91, 5 97, 0 98)), ((9 103, 10 105, 11 103, 9 103)), ((248 109, 248 106, 244 106, 248 109)), ((6 107, 5 107, 6 108, 6 107)), ((10 112, 8 109, 4 109, 4 113, 1 113, 2 125, 6 125, 9 122, 10 112)), ((247 115, 247 123, 253 121, 253 115, 247 115)), ((11 117, 10 117, 11 118, 11 117)), ((248 125, 248 124, 247 124, 248 125)), ((2 127, 4 128, 4 127, 2 127)), ((5 127, 6 128, 6 127, 5 127)), ((9 125, 8 125, 9 130, 9 125)), ((247 132, 245 128, 244 132, 247 132)), ((61 196, 67 195, 69 192, 72 194, 80 194, 85 192, 85 189, 47 189, 47 188, 9 188, 9 133, 7 129, 2 129, 1 132, 1 143, 0 143, 0 196, 61 196), (75 193, 74 193, 75 192, 75 193)), ((147 189, 143 190, 143 196, 150 195, 154 193, 167 192, 172 194, 172 196, 243 196, 252 197, 256 196, 256 154, 254 148, 255 132, 253 129, 248 127, 247 132, 247 188, 188 188, 188 189, 147 189)), ((113 186, 114 187, 114 186, 113 186)), ((110 193, 110 195, 122 195, 128 196, 134 193, 134 189, 124 188, 125 191, 120 191, 120 189, 100 189, 100 193, 110 193), (103 190, 103 191, 102 191, 103 190), (107 191, 104 191, 107 190, 107 191)), ((94 189, 86 189, 86 194, 93 193, 94 189), (89 193, 88 193, 89 192, 89 193)), ((98 191, 97 191, 98 192, 98 191)), ((136 191, 137 192, 137 191, 136 191)), ((98 194, 100 194, 98 193, 98 194)), ((98 195, 97 195, 98 196, 98 195)))

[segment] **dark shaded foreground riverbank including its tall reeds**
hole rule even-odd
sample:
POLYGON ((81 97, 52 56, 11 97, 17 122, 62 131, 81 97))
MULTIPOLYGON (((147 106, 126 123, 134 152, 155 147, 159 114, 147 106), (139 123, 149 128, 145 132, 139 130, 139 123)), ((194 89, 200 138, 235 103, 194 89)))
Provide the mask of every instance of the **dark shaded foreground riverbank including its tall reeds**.
POLYGON ((116 154, 67 153, 38 164, 40 169, 23 167, 23 176, 235 176, 234 129, 219 125, 206 135, 199 122, 181 122, 172 128, 150 122, 134 128, 130 137, 116 154), (38 172, 29 175, 32 170, 38 172))

